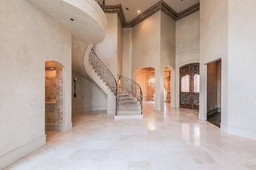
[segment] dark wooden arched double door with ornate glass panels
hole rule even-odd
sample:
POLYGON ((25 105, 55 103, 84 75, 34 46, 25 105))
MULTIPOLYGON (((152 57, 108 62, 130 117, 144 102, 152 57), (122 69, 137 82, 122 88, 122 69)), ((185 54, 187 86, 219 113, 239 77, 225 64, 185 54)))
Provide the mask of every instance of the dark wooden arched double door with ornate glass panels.
POLYGON ((199 63, 180 67, 180 107, 199 109, 199 63))

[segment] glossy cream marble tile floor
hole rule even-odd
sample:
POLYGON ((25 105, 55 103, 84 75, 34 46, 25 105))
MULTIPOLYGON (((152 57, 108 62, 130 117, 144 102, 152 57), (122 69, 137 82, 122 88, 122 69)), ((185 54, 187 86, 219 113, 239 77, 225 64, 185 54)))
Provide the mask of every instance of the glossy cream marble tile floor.
POLYGON ((46 131, 46 145, 4 170, 255 170, 256 140, 229 135, 198 111, 154 111, 114 120, 106 111, 72 115, 73 129, 46 131))

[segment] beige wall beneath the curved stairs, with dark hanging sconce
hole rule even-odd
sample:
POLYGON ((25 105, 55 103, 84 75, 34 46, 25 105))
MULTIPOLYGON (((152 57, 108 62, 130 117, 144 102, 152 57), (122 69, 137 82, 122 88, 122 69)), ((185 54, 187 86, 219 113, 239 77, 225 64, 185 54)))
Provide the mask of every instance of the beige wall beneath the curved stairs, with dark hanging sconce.
POLYGON ((76 97, 74 97, 74 81, 72 82, 72 113, 106 110, 106 93, 94 82, 72 72, 72 78, 74 77, 78 80, 76 81, 76 97))

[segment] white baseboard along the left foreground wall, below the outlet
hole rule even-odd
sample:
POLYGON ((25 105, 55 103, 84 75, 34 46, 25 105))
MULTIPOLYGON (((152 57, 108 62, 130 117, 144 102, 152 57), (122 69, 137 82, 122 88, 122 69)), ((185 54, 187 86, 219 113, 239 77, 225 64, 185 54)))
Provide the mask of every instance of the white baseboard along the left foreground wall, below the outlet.
POLYGON ((37 139, 26 143, 25 145, 22 145, 14 150, 11 150, 10 152, 7 152, 6 154, 3 154, 0 156, 0 169, 3 169, 4 167, 12 164, 16 160, 19 160, 23 156, 29 154, 30 152, 33 152, 34 150, 38 149, 39 147, 46 144, 46 135, 42 135, 41 137, 38 137, 37 139))

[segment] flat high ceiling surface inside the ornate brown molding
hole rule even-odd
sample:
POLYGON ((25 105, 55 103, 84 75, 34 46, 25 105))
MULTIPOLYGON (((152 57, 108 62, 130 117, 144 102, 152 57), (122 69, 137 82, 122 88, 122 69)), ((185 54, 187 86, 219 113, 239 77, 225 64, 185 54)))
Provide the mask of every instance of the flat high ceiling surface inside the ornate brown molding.
MULTIPOLYGON (((132 21, 142 12, 159 2, 160 0, 105 0, 105 5, 121 4, 126 21, 132 21), (129 10, 126 10, 128 8, 129 10), (138 10, 140 13, 138 13, 138 10)), ((197 4, 199 0, 164 0, 175 12, 179 13, 182 10, 197 4)))

